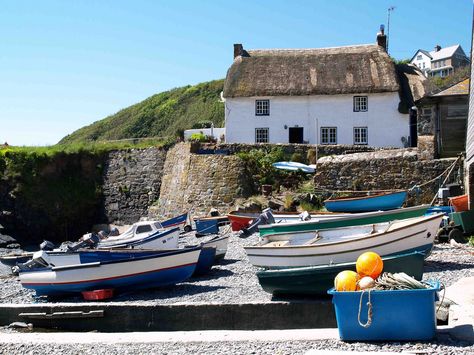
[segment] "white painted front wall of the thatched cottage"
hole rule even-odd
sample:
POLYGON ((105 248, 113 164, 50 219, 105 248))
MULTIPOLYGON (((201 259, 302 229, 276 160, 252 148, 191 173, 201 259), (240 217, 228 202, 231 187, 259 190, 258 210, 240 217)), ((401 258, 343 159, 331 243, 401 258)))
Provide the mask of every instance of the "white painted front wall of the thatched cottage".
POLYGON ((337 127, 337 144, 353 144, 354 127, 368 127, 368 145, 403 147, 409 135, 408 115, 398 112, 398 93, 358 94, 368 96, 368 111, 353 112, 354 95, 276 96, 227 98, 226 142, 255 143, 255 128, 268 127, 270 143, 288 143, 284 126, 304 128, 304 140, 320 144, 321 127, 337 127), (270 100, 270 115, 255 115, 255 100, 270 100))

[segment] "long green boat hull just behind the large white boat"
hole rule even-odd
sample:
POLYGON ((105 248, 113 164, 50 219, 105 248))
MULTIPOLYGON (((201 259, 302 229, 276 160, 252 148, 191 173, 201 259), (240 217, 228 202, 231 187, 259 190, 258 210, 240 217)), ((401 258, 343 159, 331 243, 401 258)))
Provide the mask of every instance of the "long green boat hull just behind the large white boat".
POLYGON ((309 221, 273 223, 259 226, 260 236, 265 237, 270 234, 293 233, 316 231, 318 229, 330 229, 350 226, 361 226, 364 224, 390 222, 394 220, 421 217, 428 210, 429 205, 397 208, 390 211, 376 211, 348 214, 334 218, 314 219, 309 221))

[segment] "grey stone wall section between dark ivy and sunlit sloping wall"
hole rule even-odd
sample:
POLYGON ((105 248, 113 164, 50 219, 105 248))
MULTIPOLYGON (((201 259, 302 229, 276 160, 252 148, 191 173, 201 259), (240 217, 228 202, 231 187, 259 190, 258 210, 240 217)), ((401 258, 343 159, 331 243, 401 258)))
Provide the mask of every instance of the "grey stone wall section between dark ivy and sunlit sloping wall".
POLYGON ((158 200, 166 151, 113 151, 104 167, 104 210, 110 223, 130 224, 147 216, 158 200))

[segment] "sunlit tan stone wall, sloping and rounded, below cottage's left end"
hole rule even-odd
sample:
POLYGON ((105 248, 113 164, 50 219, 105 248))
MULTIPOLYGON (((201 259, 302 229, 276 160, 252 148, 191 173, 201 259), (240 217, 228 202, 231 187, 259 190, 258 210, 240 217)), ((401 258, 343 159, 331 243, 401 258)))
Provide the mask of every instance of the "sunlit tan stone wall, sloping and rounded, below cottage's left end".
POLYGON ((244 162, 232 155, 201 155, 180 143, 168 151, 158 204, 150 217, 171 217, 189 211, 204 215, 211 208, 221 213, 239 197, 251 193, 251 177, 244 162))

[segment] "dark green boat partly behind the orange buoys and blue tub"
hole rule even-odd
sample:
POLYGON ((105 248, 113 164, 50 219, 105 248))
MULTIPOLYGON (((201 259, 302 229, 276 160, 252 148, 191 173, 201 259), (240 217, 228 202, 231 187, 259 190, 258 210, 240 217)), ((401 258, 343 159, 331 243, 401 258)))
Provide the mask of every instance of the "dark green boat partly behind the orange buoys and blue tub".
MULTIPOLYGON (((426 253, 414 251, 382 257, 384 272, 404 272, 421 280, 426 253)), ((277 295, 326 295, 334 287, 334 278, 344 270, 356 271, 356 263, 307 266, 257 272, 262 288, 277 295)))

